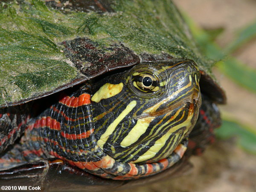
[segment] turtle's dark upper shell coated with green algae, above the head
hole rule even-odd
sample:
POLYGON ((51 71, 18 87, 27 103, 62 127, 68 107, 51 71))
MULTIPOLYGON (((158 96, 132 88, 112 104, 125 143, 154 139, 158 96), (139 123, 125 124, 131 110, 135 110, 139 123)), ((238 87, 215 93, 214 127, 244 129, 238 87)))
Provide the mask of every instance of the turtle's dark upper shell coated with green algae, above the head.
POLYGON ((0 15, 2 108, 171 58, 195 61, 201 91, 217 103, 226 100, 212 76, 213 62, 198 51, 171 0, 8 0, 0 15))

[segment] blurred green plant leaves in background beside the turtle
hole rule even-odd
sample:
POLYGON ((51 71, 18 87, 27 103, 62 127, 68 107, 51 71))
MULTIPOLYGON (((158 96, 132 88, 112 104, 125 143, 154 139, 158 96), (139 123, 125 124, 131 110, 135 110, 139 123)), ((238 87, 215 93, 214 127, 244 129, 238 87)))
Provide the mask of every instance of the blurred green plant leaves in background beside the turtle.
MULTIPOLYGON (((223 32, 223 28, 204 30, 198 27, 186 15, 185 19, 194 38, 198 42, 201 52, 207 55, 208 58, 216 61, 218 69, 227 77, 241 87, 256 93, 256 70, 232 56, 235 51, 256 38, 256 21, 239 30, 236 33, 236 38, 226 47, 221 48, 215 42, 215 39, 223 32)), ((239 145, 245 151, 256 154, 256 132, 253 131, 253 128, 236 122, 235 119, 228 119, 224 116, 222 126, 216 130, 216 135, 220 139, 236 136, 238 137, 239 145)))

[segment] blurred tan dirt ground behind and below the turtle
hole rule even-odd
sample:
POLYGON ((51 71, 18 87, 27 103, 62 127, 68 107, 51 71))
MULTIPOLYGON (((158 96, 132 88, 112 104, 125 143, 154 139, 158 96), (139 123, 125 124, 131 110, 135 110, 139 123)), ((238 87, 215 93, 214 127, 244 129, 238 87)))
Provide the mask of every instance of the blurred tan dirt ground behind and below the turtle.
MULTIPOLYGON (((256 20, 255 0, 174 0, 177 6, 200 26, 208 29, 224 27, 218 44, 232 41, 235 31, 256 20)), ((256 39, 240 48, 234 56, 256 69, 256 39)), ((236 119, 256 131, 256 95, 240 87, 215 69, 217 79, 227 93, 227 105, 221 106, 225 116, 236 119), (242 102, 241 102, 242 101, 242 102)), ((192 157, 192 173, 172 180, 132 189, 133 192, 255 192, 256 156, 235 143, 236 138, 218 141, 201 157, 192 157)), ((131 189, 122 191, 130 192, 131 189)))

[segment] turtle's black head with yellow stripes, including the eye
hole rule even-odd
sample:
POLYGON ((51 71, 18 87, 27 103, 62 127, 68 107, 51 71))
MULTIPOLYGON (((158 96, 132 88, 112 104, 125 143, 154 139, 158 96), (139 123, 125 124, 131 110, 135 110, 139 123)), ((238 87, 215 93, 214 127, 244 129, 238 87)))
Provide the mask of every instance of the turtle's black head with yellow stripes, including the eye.
POLYGON ((168 157, 198 118, 199 79, 187 59, 143 62, 108 76, 91 98, 97 144, 120 162, 168 157))

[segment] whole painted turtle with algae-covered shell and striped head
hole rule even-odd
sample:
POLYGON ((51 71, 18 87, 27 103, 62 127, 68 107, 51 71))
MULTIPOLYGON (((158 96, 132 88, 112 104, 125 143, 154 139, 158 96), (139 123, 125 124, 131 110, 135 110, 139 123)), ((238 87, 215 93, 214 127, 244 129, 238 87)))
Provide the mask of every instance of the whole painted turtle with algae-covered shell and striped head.
POLYGON ((0 182, 102 189, 168 168, 152 182, 214 139, 226 97, 171 0, 8 0, 0 15, 0 182))

